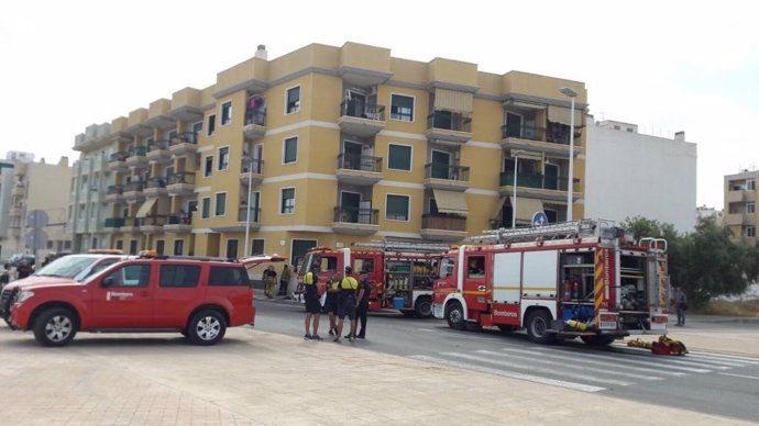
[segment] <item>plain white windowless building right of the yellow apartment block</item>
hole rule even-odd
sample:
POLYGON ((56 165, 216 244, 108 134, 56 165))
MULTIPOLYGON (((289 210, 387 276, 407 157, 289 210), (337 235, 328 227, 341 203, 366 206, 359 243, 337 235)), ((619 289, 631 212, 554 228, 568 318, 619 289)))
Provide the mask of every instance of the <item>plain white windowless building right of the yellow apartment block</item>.
POLYGON ((642 216, 679 233, 696 223, 696 144, 638 133, 635 124, 587 117, 585 216, 642 216))

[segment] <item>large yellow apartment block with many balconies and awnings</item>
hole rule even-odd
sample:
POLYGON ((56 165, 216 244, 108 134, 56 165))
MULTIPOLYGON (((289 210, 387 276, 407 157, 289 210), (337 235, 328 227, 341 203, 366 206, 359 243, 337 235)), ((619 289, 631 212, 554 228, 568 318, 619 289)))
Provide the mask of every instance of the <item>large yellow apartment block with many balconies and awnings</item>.
POLYGON ((128 251, 295 262, 316 245, 452 243, 510 227, 513 214, 517 226, 537 211, 565 220, 572 112, 562 88, 575 92, 578 218, 584 83, 355 43, 272 60, 260 46, 213 86, 95 126, 75 149, 107 158, 97 231, 128 251))

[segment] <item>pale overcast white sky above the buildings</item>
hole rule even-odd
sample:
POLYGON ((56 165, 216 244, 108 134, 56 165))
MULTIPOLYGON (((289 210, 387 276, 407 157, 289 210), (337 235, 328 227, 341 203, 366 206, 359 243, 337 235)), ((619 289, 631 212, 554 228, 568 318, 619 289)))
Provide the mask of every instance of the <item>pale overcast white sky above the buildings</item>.
POLYGON ((583 81, 595 120, 697 144, 698 205, 759 168, 759 30, 749 1, 25 0, 0 12, 0 156, 73 161, 92 123, 206 88, 258 44, 311 43, 444 57, 481 71, 583 81), (746 130, 748 127, 748 131, 746 130))

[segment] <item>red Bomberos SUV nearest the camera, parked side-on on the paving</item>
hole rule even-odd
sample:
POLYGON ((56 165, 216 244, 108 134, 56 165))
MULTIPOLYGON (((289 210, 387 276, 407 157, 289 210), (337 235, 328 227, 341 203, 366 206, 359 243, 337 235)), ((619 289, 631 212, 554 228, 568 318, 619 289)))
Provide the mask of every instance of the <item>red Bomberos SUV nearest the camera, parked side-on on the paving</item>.
POLYGON ((81 283, 22 287, 10 323, 34 330, 44 346, 64 346, 77 332, 180 332, 196 345, 215 345, 227 327, 254 322, 246 268, 278 260, 124 260, 81 283))

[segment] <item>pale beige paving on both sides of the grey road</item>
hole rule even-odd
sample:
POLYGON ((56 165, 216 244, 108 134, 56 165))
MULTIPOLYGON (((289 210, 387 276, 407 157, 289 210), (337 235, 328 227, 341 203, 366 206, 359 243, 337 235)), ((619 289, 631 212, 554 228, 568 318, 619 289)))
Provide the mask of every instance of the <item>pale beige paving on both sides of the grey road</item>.
MULTIPOLYGON (((759 357, 752 324, 691 315, 670 337, 759 357)), ((0 363, 7 425, 749 424, 248 326, 215 347, 172 334, 80 334, 57 349, 3 326, 0 363)))

